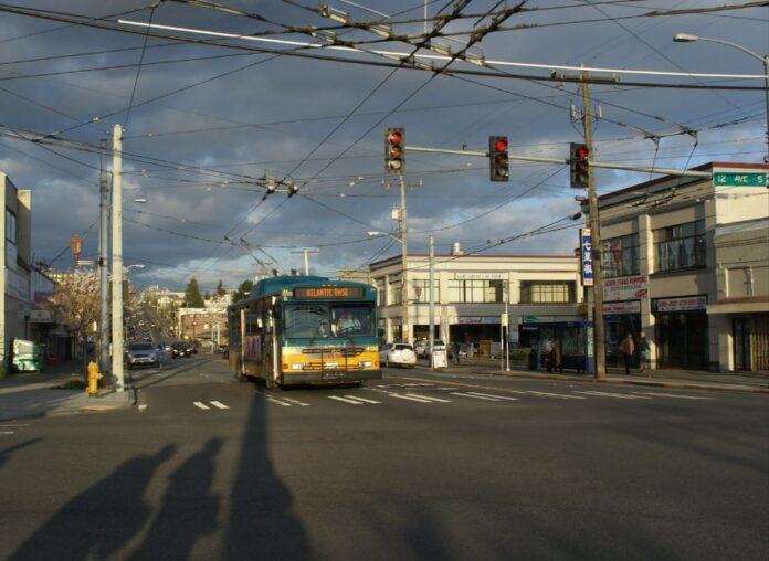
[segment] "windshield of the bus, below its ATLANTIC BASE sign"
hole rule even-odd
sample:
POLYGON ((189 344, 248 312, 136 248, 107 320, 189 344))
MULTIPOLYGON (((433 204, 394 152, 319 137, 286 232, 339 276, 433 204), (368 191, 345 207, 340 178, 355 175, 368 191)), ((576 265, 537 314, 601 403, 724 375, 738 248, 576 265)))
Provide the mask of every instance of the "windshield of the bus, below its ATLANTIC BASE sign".
POLYGON ((297 338, 370 337, 373 307, 289 305, 284 309, 284 336, 297 338))

